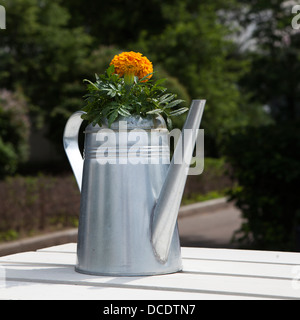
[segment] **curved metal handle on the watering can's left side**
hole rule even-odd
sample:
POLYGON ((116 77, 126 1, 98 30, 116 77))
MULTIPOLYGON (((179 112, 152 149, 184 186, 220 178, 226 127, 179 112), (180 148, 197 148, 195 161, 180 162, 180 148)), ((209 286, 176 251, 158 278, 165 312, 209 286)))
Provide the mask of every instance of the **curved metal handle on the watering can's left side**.
POLYGON ((81 191, 83 159, 78 145, 78 134, 80 125, 83 121, 81 115, 85 114, 84 111, 77 111, 71 115, 66 123, 63 143, 65 152, 74 172, 79 190, 81 191))

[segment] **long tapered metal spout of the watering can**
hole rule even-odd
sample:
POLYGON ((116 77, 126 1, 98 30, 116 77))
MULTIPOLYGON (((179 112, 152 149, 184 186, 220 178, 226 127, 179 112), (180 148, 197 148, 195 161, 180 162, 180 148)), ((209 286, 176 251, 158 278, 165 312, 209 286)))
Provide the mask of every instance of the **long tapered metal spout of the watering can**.
POLYGON ((205 100, 192 101, 166 180, 153 211, 151 242, 156 258, 162 263, 168 259, 205 102, 205 100))

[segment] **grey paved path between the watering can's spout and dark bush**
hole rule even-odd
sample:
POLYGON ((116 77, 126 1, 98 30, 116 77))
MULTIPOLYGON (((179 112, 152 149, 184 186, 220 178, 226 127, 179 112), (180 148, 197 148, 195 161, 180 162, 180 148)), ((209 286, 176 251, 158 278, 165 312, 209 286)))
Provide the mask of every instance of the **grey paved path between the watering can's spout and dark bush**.
POLYGON ((180 217, 178 228, 181 246, 234 248, 231 238, 241 223, 241 213, 234 206, 180 217))

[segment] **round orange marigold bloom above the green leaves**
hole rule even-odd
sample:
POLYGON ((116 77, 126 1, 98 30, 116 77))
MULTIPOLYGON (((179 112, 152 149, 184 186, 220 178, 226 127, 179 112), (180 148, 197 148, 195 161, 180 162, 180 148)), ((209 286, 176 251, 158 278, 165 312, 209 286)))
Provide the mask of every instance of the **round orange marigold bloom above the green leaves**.
MULTIPOLYGON (((128 84, 133 84, 134 76, 142 79, 153 72, 152 63, 139 52, 122 52, 112 59, 110 65, 112 64, 115 67, 115 73, 120 77, 124 75, 125 82, 128 84)), ((152 75, 145 82, 151 77, 152 75)))

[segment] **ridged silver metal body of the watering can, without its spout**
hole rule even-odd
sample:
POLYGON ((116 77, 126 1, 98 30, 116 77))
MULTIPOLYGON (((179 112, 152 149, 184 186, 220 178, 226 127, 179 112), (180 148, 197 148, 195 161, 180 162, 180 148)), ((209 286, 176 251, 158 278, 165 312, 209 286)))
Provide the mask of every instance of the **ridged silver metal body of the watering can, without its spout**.
MULTIPOLYGON (((170 155, 164 120, 158 118, 154 123, 150 119, 142 123, 139 119, 126 119, 128 132, 117 123, 110 129, 103 126, 100 130, 98 126, 89 125, 85 130, 75 268, 78 272, 152 275, 182 268, 177 228, 173 231, 167 263, 161 264, 155 258, 151 244, 151 215, 168 171, 170 155), (133 128, 135 130, 130 131, 133 128), (157 144, 153 145, 153 141, 157 144), (139 153, 134 149, 136 144, 140 147, 139 153), (135 160, 149 161, 150 152, 151 159, 160 163, 135 163, 135 160), (105 160, 116 160, 116 163, 104 163, 105 160), (124 160, 126 164, 122 163, 124 160)), ((69 121, 79 124, 77 117, 69 121)), ((70 123, 67 126, 72 127, 70 123)), ((76 136, 78 131, 73 132, 76 136)), ((70 141, 69 136, 67 141, 70 141)), ((66 145, 70 148, 70 143, 66 145)), ((70 151, 69 154, 72 157, 70 151)), ((80 168, 71 158, 72 161, 72 168, 80 168)))

